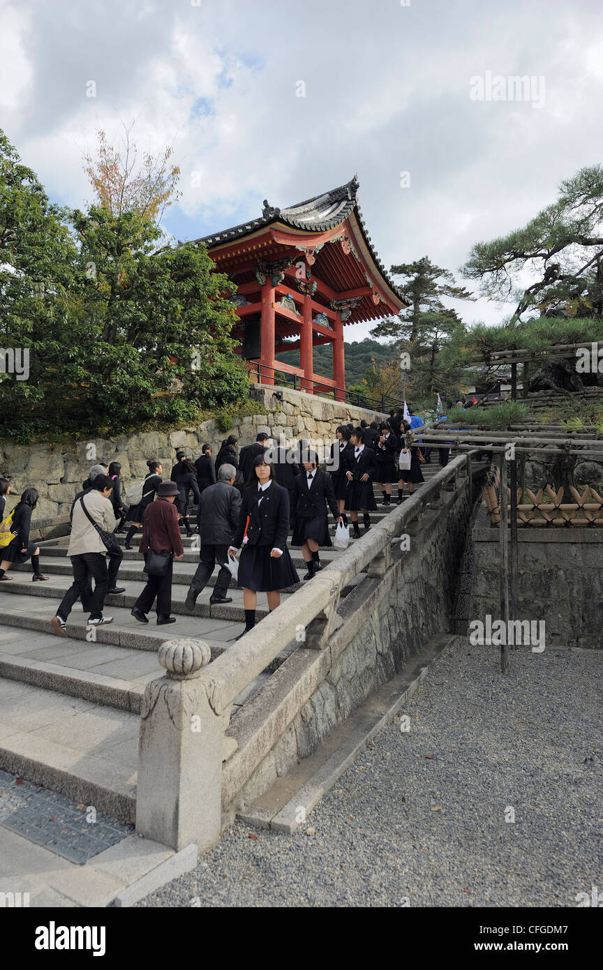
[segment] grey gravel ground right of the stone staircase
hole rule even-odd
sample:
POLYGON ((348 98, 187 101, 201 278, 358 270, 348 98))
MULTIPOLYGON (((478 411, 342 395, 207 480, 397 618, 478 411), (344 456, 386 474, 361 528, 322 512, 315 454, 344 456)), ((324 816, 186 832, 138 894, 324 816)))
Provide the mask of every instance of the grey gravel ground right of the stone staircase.
POLYGON ((459 639, 295 835, 235 823, 140 905, 575 907, 578 892, 603 894, 603 655, 520 648, 511 667, 502 677, 495 648, 459 639))

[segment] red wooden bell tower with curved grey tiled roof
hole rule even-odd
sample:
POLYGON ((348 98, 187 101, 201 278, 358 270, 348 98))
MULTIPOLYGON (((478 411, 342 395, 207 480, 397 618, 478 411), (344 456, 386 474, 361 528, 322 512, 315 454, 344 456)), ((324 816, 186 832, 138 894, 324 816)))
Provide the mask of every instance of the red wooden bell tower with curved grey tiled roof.
POLYGON ((308 394, 345 400, 344 325, 408 306, 366 234, 358 187, 353 178, 283 210, 265 202, 261 217, 196 241, 238 284, 233 336, 259 383, 273 385, 276 371, 292 373, 308 394), (313 347, 323 343, 333 345, 333 379, 314 373, 313 347), (277 360, 298 349, 299 368, 277 360))

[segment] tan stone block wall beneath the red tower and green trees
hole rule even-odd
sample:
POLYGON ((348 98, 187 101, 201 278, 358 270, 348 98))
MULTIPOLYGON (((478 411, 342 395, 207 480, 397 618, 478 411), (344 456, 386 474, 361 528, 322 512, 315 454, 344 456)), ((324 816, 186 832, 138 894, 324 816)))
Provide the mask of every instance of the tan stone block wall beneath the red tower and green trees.
POLYGON ((191 426, 180 431, 151 431, 138 435, 117 435, 110 438, 87 437, 73 442, 45 441, 35 445, 0 442, 0 472, 13 476, 7 511, 16 504, 18 495, 27 487, 37 488, 40 500, 35 518, 46 519, 69 512, 74 496, 81 489, 88 470, 101 459, 107 463, 121 462, 123 490, 148 471, 147 460, 163 464, 164 478, 170 477, 177 448, 187 450, 193 460, 201 455, 204 444, 211 444, 214 457, 220 443, 229 435, 238 437, 238 447, 251 444, 259 432, 288 440, 306 438, 334 438, 338 424, 359 422, 362 418, 381 420, 382 415, 362 407, 340 404, 326 398, 304 394, 288 388, 254 385, 252 400, 260 401, 269 411, 240 418, 227 432, 221 432, 215 421, 191 426), (275 394, 281 394, 278 400, 275 394), (93 447, 91 447, 93 446, 93 447), (88 458, 93 454, 95 458, 88 458))

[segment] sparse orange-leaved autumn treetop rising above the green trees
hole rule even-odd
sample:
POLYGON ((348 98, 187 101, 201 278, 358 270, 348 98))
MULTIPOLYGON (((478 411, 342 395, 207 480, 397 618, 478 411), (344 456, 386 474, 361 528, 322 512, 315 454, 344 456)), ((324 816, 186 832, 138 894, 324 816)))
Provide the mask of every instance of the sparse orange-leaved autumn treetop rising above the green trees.
POLYGON ((156 157, 145 152, 139 158, 132 140, 134 121, 124 125, 124 136, 118 148, 109 144, 107 134, 97 131, 96 159, 86 155, 85 173, 94 189, 96 204, 111 215, 136 212, 152 222, 159 222, 164 210, 182 194, 176 190, 180 169, 172 165, 172 146, 164 146, 156 157))

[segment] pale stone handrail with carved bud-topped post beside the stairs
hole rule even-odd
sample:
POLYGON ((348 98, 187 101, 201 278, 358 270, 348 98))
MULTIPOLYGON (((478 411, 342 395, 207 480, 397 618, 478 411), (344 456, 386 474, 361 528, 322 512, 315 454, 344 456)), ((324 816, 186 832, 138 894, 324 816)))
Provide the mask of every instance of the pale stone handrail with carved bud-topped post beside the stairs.
MULTIPOLYGON (((369 578, 385 576, 394 565, 393 540, 401 533, 419 533, 422 510, 429 503, 441 509, 446 485, 460 473, 469 475, 470 489, 467 454, 441 469, 336 563, 322 569, 211 663, 209 648, 201 640, 162 646, 160 663, 167 673, 146 685, 141 711, 139 834, 176 851, 191 842, 202 852, 217 844, 223 822, 222 763, 232 757, 233 745, 237 749, 227 734, 233 701, 292 641, 306 650, 328 648, 334 631, 344 625, 338 606, 345 586, 365 568, 369 578)), ((270 681, 266 688, 270 690, 270 681)), ((303 700, 301 695, 300 703, 303 700)), ((262 757, 264 751, 256 747, 255 761, 262 757)))

